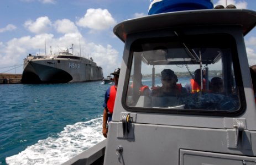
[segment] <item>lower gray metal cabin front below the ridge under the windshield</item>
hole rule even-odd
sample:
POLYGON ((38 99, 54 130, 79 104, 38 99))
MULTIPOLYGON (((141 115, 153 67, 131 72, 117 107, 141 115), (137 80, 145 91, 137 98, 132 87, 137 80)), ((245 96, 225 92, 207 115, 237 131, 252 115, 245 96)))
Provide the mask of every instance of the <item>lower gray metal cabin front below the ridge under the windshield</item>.
MULTIPOLYGON (((253 141, 252 150, 229 149, 223 129, 134 124, 134 138, 123 139, 113 131, 122 131, 118 127, 119 122, 111 122, 105 164, 179 164, 180 149, 255 157, 253 141), (116 155, 119 145, 123 152, 116 155)), ((250 136, 255 139, 256 131, 250 131, 250 136)))

